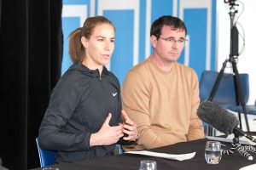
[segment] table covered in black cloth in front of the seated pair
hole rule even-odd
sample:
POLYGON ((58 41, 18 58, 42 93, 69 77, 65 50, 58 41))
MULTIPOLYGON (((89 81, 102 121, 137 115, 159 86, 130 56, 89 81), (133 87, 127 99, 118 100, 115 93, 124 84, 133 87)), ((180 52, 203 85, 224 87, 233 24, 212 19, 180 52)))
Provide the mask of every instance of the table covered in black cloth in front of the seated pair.
MULTIPOLYGON (((51 167, 59 167, 60 170, 138 170, 140 161, 142 160, 154 160, 157 162, 158 170, 169 169, 182 169, 182 170, 212 170, 212 169, 232 169, 236 170, 247 165, 256 163, 256 153, 252 153, 253 161, 248 161, 244 156, 235 152, 232 155, 223 155, 218 165, 209 165, 205 161, 204 151, 205 145, 208 139, 200 139, 191 142, 184 142, 178 144, 172 144, 160 148, 156 148, 150 151, 169 153, 169 154, 185 154, 196 152, 195 157, 185 161, 174 161, 152 156, 141 156, 124 154, 119 156, 108 156, 104 158, 79 161, 75 163, 61 163, 51 167)), ((223 143, 227 149, 230 149, 231 144, 223 143)), ((36 168, 42 169, 42 168, 36 168)), ((35 170, 36 170, 35 169, 35 170)))

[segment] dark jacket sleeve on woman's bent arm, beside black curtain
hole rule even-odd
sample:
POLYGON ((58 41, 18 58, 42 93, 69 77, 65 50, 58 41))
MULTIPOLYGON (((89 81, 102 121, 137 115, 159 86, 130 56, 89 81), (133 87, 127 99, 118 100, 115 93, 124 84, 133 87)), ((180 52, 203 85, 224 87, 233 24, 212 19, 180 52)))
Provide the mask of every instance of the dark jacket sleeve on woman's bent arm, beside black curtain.
POLYGON ((90 149, 90 133, 65 133, 62 127, 73 115, 82 94, 74 82, 61 80, 53 90, 49 106, 39 127, 39 144, 47 150, 79 151, 90 149))

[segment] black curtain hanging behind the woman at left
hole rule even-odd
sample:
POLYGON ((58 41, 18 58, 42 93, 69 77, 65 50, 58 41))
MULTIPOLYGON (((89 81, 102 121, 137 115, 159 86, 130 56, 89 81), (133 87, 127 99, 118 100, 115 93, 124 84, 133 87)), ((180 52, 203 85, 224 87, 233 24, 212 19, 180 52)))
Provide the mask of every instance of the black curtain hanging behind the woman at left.
POLYGON ((0 157, 39 167, 35 139, 61 76, 61 0, 0 0, 0 157))

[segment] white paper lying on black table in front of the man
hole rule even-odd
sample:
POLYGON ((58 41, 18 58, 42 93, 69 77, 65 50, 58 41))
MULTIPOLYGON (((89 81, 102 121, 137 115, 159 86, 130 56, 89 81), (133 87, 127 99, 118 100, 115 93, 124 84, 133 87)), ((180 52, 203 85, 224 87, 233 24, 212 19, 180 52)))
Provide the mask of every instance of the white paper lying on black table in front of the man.
POLYGON ((195 156, 195 152, 192 152, 192 153, 189 153, 189 154, 177 154, 177 155, 175 155, 175 154, 165 154, 165 153, 141 150, 141 151, 128 151, 128 152, 125 152, 125 153, 139 154, 139 155, 143 155, 143 156, 161 157, 161 158, 172 159, 172 160, 177 160, 177 161, 188 160, 188 159, 191 159, 192 157, 195 156))

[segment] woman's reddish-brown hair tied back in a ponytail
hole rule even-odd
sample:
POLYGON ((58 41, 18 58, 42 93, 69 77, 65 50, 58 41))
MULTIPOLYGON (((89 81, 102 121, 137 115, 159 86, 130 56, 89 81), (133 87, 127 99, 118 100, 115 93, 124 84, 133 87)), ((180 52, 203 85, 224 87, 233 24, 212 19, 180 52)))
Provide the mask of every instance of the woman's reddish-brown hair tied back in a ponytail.
MULTIPOLYGON (((80 61, 82 62, 85 57, 85 49, 81 42, 81 37, 85 37, 86 39, 90 39, 90 36, 92 32, 94 31, 94 28, 98 25, 102 24, 109 24, 113 26, 113 23, 105 18, 104 16, 95 16, 87 18, 84 21, 84 26, 77 28, 71 34, 69 37, 69 54, 73 62, 80 61)), ((113 26, 114 29, 114 26, 113 26)))

